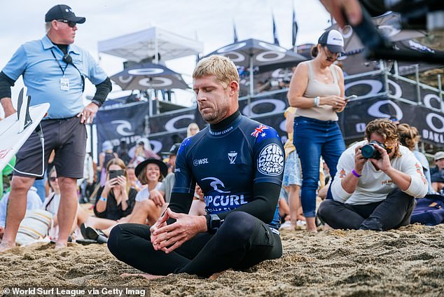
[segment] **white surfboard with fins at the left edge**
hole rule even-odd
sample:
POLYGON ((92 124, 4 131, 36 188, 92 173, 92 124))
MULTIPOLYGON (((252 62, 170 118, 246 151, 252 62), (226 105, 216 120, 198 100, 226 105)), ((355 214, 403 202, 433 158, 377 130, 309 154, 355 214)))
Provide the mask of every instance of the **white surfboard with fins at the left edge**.
POLYGON ((17 113, 0 120, 0 170, 15 156, 50 106, 49 103, 29 106, 26 87, 20 91, 18 105, 17 113))

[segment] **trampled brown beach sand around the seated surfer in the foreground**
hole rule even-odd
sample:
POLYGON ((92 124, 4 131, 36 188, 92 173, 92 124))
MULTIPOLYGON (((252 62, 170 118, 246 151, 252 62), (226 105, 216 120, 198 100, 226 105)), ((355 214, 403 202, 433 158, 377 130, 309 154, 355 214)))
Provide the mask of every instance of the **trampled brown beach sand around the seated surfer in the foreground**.
POLYGON ((0 254, 0 290, 74 285, 146 287, 151 296, 444 296, 444 225, 387 232, 284 230, 282 242, 282 258, 243 272, 228 270, 214 280, 120 277, 138 270, 113 258, 106 245, 16 247, 0 254))

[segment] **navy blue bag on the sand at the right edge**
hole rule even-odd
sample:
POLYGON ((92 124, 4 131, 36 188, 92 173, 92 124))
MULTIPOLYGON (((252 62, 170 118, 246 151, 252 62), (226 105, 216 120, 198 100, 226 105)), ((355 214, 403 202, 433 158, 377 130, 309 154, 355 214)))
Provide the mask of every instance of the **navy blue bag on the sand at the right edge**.
POLYGON ((426 195, 424 198, 415 198, 416 207, 413 210, 410 223, 422 223, 435 226, 444 223, 444 197, 441 195, 426 195))

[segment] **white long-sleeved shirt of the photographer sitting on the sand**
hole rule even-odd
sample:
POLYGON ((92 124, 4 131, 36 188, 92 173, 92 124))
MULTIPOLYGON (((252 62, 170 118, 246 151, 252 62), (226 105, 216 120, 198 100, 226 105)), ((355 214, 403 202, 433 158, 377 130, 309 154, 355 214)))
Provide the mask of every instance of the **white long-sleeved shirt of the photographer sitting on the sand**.
MULTIPOLYGON (((368 141, 360 141, 354 146, 347 148, 342 153, 338 161, 338 172, 331 185, 331 193, 333 200, 351 204, 365 205, 368 203, 379 202, 387 198, 396 184, 382 170, 376 170, 370 161, 367 161, 362 170, 362 176, 359 177, 358 185, 354 193, 350 194, 342 188, 342 178, 354 169, 354 150, 356 146, 368 144, 368 141)), ((405 193, 413 197, 422 198, 426 195, 428 185, 426 177, 422 172, 422 165, 419 163, 415 155, 405 146, 399 146, 400 157, 391 159, 391 167, 411 177, 410 186, 405 193)))

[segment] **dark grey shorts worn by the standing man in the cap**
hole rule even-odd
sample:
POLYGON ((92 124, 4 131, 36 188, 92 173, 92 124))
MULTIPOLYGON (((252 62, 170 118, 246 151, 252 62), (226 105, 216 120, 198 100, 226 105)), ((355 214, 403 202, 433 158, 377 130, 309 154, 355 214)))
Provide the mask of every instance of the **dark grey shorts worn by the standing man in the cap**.
MULTIPOLYGON (((85 162, 86 127, 80 123, 80 118, 62 118, 42 120, 41 130, 45 139, 44 172, 48 166, 51 151, 55 150, 55 170, 59 177, 81 179, 83 163, 85 162)), ((31 136, 17 153, 15 168, 21 172, 41 174, 42 146, 39 134, 32 132, 31 136)), ((34 177, 14 171, 20 177, 34 177)), ((37 177, 43 179, 43 177, 37 177)))

